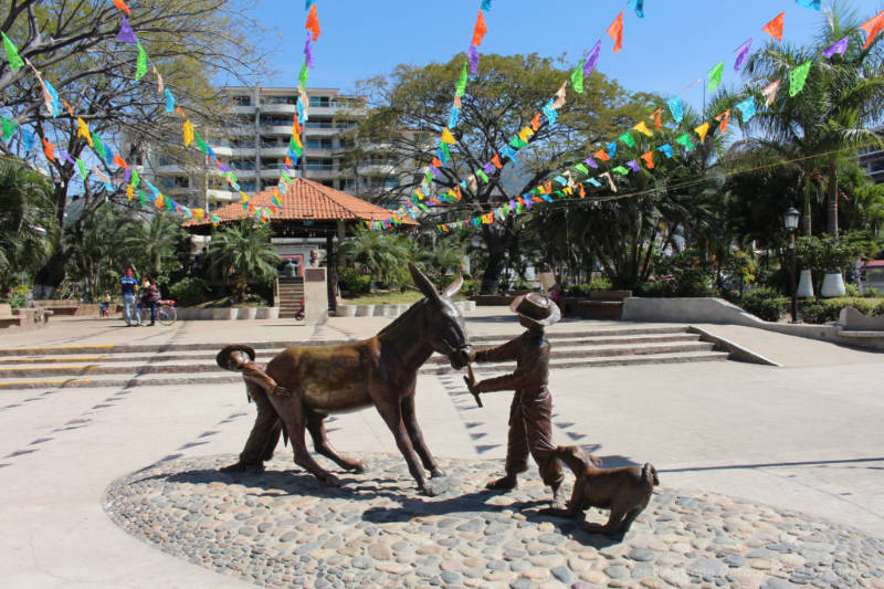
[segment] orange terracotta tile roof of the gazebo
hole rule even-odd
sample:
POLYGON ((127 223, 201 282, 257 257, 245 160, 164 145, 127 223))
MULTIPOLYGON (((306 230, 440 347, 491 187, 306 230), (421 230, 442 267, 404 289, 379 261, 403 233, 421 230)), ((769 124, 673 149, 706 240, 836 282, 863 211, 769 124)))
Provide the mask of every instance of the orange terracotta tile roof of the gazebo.
MULTIPOLYGON (((273 193, 273 189, 263 190, 252 197, 250 202, 256 208, 270 207, 273 193)), ((295 178, 287 186, 281 200, 283 208, 271 214, 271 221, 336 221, 338 219, 382 221, 392 215, 391 211, 382 207, 306 178, 295 178)), ((253 212, 243 210, 240 202, 231 202, 212 212, 221 222, 254 217, 253 212)), ((210 223, 211 220, 208 218, 201 222, 189 219, 182 225, 194 227, 210 223)), ((407 221, 403 224, 418 225, 413 221, 407 221)))

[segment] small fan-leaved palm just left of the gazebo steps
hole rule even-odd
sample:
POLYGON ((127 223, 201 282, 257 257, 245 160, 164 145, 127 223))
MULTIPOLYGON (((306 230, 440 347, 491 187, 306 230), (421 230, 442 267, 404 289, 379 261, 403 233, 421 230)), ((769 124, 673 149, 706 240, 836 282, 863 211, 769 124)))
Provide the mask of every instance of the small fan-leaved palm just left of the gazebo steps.
POLYGON ((240 301, 245 298, 250 284, 276 275, 282 257, 270 241, 271 234, 270 228, 255 227, 245 220, 239 227, 228 227, 212 234, 209 259, 221 265, 240 301))

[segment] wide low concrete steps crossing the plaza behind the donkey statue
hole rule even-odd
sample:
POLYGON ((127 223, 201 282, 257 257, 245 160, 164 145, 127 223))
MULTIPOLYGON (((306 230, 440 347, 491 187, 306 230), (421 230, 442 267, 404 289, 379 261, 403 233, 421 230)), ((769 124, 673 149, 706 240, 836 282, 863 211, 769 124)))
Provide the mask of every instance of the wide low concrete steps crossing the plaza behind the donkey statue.
MULTIPOLYGON (((516 335, 476 336, 476 347, 503 344, 516 335)), ((613 327, 548 333, 552 345, 550 369, 628 366, 639 364, 716 361, 728 353, 703 341, 701 335, 684 326, 613 327)), ((338 341, 306 341, 302 345, 327 346, 338 341)), ((266 361, 291 341, 250 344, 257 359, 266 361)), ((67 346, 57 348, 0 349, 0 391, 48 388, 94 388, 159 385, 207 385, 241 382, 239 374, 218 367, 214 361, 221 345, 166 344, 127 346, 67 346)), ((505 372, 515 362, 476 365, 476 371, 505 372)), ((448 358, 434 354, 421 368, 422 374, 451 371, 448 358)))

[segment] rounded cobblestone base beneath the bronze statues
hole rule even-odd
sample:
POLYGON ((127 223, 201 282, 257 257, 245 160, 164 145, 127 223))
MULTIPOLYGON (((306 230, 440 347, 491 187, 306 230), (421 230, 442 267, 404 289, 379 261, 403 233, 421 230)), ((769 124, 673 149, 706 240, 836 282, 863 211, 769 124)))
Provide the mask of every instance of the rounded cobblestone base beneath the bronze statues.
POLYGON ((233 455, 160 462, 113 482, 105 511, 165 553, 264 587, 884 587, 884 541, 798 513, 662 486, 611 539, 539 515, 550 492, 534 467, 494 494, 483 486, 501 462, 441 460, 442 493, 425 497, 400 455, 355 457, 369 471, 337 473, 340 488, 291 459, 260 475, 219 473, 233 455))

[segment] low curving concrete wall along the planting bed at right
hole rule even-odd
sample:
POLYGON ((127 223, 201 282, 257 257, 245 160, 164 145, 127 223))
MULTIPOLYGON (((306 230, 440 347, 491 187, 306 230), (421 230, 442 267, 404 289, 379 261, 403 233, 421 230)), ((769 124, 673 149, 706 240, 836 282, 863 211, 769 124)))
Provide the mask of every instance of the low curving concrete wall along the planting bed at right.
POLYGON ((663 323, 724 323, 758 327, 769 332, 822 339, 849 346, 884 349, 884 333, 864 332, 862 336, 851 335, 841 325, 812 325, 771 323, 746 313, 736 305, 722 298, 684 297, 684 298, 643 298, 631 296, 623 301, 623 314, 627 322, 663 322, 663 323), (842 332, 845 332, 842 335, 842 332))

